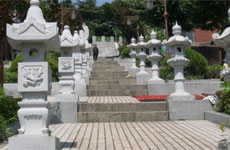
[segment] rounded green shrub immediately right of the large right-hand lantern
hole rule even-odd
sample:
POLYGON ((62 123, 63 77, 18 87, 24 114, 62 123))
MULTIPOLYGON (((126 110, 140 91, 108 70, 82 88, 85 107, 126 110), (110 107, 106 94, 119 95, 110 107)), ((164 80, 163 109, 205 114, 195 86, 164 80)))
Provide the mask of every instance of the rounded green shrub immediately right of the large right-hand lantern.
POLYGON ((186 79, 204 79, 208 71, 208 61, 200 53, 192 49, 185 50, 186 57, 190 60, 189 64, 185 67, 186 79))

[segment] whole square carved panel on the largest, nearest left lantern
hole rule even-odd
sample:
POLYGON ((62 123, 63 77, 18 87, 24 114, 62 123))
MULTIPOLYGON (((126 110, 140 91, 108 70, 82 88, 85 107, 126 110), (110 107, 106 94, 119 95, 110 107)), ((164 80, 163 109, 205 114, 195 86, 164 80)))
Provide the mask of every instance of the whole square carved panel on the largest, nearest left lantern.
POLYGON ((47 92, 48 89, 48 62, 18 63, 19 92, 47 92))

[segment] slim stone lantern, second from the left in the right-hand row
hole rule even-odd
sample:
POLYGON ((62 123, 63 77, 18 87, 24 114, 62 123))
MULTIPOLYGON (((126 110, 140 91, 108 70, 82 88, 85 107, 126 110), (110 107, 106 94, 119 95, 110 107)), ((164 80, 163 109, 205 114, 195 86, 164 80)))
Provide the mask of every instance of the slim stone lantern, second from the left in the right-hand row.
POLYGON ((144 42, 144 37, 141 35, 140 42, 137 44, 137 58, 140 60, 140 72, 136 74, 137 84, 146 84, 149 79, 149 73, 145 71, 145 58, 147 57, 146 44, 147 43, 144 42))

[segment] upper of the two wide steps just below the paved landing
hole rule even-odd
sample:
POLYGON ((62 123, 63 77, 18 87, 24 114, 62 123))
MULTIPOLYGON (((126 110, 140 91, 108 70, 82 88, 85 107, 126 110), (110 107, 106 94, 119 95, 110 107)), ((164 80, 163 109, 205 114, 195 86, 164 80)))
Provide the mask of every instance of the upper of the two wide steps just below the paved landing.
POLYGON ((86 103, 78 104, 79 112, 167 111, 166 102, 143 103, 86 103))

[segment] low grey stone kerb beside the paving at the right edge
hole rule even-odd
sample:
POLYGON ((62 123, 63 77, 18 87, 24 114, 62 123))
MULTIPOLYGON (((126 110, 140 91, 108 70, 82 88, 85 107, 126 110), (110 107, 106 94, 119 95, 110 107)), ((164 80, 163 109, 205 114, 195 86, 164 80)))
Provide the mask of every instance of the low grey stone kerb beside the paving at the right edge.
POLYGON ((219 113, 215 111, 206 111, 205 120, 217 123, 217 124, 230 124, 230 115, 219 113))

